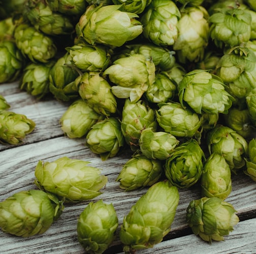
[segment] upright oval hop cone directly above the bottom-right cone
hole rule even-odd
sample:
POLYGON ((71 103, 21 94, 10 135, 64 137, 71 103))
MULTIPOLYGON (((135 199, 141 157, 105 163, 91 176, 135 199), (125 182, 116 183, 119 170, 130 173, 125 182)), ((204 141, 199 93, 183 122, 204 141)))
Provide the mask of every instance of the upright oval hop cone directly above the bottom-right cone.
POLYGON ((202 197, 227 198, 232 191, 231 170, 224 157, 211 154, 204 164, 201 176, 202 197))

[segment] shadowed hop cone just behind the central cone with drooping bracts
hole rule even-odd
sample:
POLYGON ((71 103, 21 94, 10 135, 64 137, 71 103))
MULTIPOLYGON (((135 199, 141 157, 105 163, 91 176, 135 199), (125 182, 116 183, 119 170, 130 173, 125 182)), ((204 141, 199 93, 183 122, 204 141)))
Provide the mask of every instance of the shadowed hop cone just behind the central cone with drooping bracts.
MULTIPOLYGON (((117 54, 118 56, 140 54, 144 55, 147 59, 152 58, 155 67, 162 71, 172 68, 176 62, 174 56, 175 52, 173 50, 169 50, 166 47, 158 46, 153 43, 125 45, 125 48, 117 54)), ((114 55, 114 57, 120 58, 118 56, 114 55)))

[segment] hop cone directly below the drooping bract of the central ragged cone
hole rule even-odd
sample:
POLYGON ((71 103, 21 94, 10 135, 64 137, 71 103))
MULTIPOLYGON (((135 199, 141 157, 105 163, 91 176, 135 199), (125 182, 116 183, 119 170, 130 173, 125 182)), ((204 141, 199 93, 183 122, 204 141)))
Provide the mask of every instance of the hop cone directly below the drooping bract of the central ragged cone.
POLYGON ((141 131, 147 128, 152 128, 153 131, 157 129, 154 110, 143 100, 132 103, 126 99, 122 111, 121 131, 132 151, 139 149, 141 131))

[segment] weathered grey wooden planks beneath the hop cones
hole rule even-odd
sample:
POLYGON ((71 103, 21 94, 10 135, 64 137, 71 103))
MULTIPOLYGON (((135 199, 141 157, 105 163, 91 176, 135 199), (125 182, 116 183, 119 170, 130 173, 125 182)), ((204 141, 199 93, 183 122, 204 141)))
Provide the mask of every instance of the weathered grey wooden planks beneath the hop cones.
MULTIPOLYGON (((10 111, 24 114, 36 123, 35 130, 19 146, 0 144, 0 201, 22 190, 37 189, 33 182, 39 160, 51 162, 67 156, 90 161, 91 166, 102 168, 102 173, 108 176, 103 194, 93 201, 103 199, 106 203, 112 203, 119 218, 117 238, 105 253, 123 253, 118 237, 123 216, 146 192, 146 189, 124 192, 115 181, 131 153, 128 151, 103 162, 84 146, 84 138, 70 139, 64 136, 59 120, 68 103, 52 98, 37 100, 20 91, 17 82, 1 84, 0 94, 11 105, 10 111)), ((154 248, 138 250, 137 253, 256 253, 256 183, 243 173, 233 175, 232 183, 233 190, 226 201, 235 207, 240 222, 229 236, 224 237, 225 241, 213 241, 210 245, 192 234, 187 226, 186 208, 191 200, 201 197, 200 188, 196 185, 189 190, 179 190, 180 202, 172 231, 154 248)), ((79 214, 89 202, 66 204, 60 219, 43 235, 21 238, 0 230, 0 253, 84 253, 77 241, 76 224, 79 214)))

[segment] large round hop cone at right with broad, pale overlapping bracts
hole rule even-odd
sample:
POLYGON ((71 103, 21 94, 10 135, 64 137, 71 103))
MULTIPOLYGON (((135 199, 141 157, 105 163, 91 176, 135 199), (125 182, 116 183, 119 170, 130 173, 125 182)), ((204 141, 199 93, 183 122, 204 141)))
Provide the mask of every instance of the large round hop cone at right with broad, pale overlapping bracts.
POLYGON ((179 100, 182 106, 189 105, 197 114, 227 114, 234 98, 225 89, 218 76, 195 69, 179 83, 179 100))

